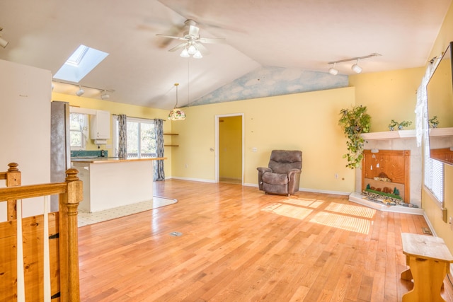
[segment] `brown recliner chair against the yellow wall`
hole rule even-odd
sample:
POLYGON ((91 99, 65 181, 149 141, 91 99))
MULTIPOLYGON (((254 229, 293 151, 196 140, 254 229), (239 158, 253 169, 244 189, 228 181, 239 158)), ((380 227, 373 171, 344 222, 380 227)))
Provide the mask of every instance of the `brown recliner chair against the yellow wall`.
POLYGON ((273 150, 268 166, 256 168, 261 191, 287 196, 299 191, 302 151, 273 150))

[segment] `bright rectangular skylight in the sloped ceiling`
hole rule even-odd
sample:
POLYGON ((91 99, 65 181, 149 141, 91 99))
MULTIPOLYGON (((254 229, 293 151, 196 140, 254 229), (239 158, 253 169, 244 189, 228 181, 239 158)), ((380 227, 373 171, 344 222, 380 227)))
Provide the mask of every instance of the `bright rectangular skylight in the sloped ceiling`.
POLYGON ((107 52, 80 45, 60 67, 54 79, 79 83, 81 79, 84 79, 84 76, 98 66, 107 56, 107 52))

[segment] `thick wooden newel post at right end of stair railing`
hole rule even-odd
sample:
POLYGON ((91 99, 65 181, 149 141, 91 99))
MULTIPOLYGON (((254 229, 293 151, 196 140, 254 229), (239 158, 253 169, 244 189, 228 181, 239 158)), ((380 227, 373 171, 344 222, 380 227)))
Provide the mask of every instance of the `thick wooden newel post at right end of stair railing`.
POLYGON ((60 289, 67 289, 61 292, 63 302, 80 301, 77 208, 84 191, 77 173, 79 170, 74 168, 66 171, 67 191, 59 195, 60 214, 67 216, 67 219, 59 219, 60 289))

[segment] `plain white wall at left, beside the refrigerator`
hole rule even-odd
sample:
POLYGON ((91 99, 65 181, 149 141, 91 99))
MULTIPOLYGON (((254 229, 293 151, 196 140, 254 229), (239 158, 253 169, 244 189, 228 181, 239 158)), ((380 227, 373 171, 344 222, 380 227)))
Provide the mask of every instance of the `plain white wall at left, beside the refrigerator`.
MULTIPOLYGON (((50 182, 51 85, 50 71, 0 60, 0 170, 18 163, 22 185, 50 182)), ((24 216, 41 212, 38 205, 23 208, 24 216)), ((1 202, 0 221, 5 219, 1 202)))

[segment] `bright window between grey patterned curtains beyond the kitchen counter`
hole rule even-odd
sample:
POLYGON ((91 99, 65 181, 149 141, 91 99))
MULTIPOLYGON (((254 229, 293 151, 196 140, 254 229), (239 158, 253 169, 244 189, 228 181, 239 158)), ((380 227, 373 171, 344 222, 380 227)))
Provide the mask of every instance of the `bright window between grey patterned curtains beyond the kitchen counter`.
MULTIPOLYGON (((118 122, 115 118, 114 139, 115 156, 118 155, 118 122)), ((156 134, 154 120, 127 117, 127 158, 156 157, 156 134)))

